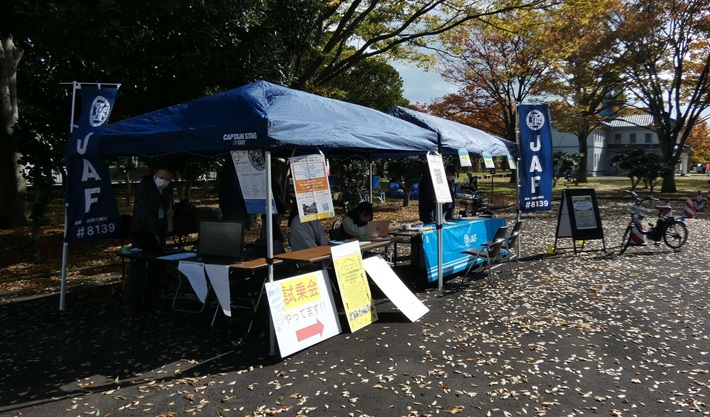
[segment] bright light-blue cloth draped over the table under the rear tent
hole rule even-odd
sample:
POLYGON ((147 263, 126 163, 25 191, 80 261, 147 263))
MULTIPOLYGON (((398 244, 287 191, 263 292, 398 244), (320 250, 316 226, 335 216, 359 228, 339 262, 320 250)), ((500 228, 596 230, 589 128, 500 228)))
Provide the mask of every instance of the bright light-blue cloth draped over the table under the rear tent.
MULTIPOLYGON (((501 226, 505 226, 505 219, 500 217, 459 220, 453 224, 444 224, 441 230, 443 275, 448 276, 466 271, 473 263, 473 257, 461 252, 466 249, 478 249, 483 242, 493 240, 493 236, 501 226)), ((424 232, 422 234, 422 256, 429 282, 439 279, 437 253, 436 230, 424 232)))

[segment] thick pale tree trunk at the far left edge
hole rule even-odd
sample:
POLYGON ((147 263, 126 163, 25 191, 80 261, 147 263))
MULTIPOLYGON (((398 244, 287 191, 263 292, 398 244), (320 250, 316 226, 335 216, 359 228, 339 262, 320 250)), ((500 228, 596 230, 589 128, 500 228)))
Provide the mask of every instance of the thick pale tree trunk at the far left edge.
POLYGON ((17 123, 17 64, 22 49, 16 48, 12 37, 0 42, 0 229, 27 224, 25 180, 20 174, 17 153, 10 141, 17 123))

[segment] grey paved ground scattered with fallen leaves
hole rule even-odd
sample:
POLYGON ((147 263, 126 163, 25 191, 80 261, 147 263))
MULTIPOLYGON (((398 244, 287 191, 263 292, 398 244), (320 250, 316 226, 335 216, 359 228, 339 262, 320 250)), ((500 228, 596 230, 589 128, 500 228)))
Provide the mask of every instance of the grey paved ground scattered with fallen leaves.
POLYGON ((618 256, 628 203, 600 202, 607 253, 545 255, 558 209, 525 215, 517 276, 421 291, 417 323, 380 299, 285 359, 263 321, 235 346, 245 323, 211 312, 126 318, 115 284, 1 305, 0 415, 708 415, 710 214, 678 253, 618 256))

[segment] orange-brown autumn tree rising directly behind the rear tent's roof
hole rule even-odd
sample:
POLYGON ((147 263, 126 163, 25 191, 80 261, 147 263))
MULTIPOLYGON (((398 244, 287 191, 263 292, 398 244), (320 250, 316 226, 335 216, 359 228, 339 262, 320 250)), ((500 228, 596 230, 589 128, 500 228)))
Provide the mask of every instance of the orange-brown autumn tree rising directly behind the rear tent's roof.
POLYGON ((510 11, 447 33, 440 73, 460 89, 428 110, 516 141, 516 103, 539 92, 551 64, 542 19, 537 11, 510 11))

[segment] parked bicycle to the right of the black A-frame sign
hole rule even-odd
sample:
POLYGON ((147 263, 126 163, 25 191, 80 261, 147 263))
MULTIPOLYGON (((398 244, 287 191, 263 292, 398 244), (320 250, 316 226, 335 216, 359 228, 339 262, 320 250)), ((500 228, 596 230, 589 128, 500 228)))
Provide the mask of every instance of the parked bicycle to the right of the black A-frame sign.
POLYGON ((628 226, 626 226, 626 231, 624 231, 624 237, 621 238, 621 251, 619 255, 623 254, 632 244, 638 246, 645 245, 645 237, 649 237, 655 242, 655 245, 659 245, 661 239, 663 239, 666 246, 673 250, 678 250, 685 244, 685 241, 688 240, 688 228, 682 220, 676 219, 671 215, 670 206, 657 205, 655 207, 656 210, 658 210, 656 225, 654 226, 649 223, 648 225, 651 226, 651 229, 645 230, 641 222, 647 215, 653 212, 651 209, 643 207, 642 204, 646 201, 659 200, 654 197, 640 197, 635 191, 625 191, 629 193, 636 202, 629 210, 631 219, 629 220, 628 226))

